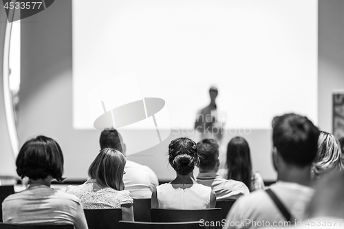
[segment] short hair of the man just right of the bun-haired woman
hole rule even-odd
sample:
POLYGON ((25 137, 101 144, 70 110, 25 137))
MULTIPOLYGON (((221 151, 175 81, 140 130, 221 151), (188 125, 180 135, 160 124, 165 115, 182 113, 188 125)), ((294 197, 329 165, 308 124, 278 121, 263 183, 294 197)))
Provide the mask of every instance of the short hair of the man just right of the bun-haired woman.
POLYGON ((200 168, 213 169, 219 157, 219 145, 216 140, 204 139, 197 143, 197 151, 200 156, 200 168))

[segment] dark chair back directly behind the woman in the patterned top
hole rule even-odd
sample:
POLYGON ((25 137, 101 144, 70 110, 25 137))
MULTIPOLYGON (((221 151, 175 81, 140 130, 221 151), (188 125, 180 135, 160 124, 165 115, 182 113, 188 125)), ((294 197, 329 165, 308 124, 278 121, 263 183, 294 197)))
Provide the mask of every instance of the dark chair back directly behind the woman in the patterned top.
POLYGON ((89 229, 116 229, 118 221, 122 220, 122 210, 112 209, 84 209, 89 229))

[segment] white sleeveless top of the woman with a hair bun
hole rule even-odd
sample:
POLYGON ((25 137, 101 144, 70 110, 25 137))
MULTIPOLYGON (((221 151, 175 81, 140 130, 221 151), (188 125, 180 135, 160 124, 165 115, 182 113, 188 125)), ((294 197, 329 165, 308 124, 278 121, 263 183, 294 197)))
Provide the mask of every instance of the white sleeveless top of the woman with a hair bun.
POLYGON ((158 208, 210 208, 211 187, 202 184, 162 184, 156 187, 158 208))

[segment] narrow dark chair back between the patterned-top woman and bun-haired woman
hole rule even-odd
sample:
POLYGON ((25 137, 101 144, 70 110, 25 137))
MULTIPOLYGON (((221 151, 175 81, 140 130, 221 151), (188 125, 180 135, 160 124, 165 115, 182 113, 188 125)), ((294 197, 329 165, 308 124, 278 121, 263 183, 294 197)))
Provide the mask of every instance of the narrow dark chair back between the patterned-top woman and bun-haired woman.
POLYGON ((133 218, 135 221, 151 221, 151 199, 133 199, 133 218))

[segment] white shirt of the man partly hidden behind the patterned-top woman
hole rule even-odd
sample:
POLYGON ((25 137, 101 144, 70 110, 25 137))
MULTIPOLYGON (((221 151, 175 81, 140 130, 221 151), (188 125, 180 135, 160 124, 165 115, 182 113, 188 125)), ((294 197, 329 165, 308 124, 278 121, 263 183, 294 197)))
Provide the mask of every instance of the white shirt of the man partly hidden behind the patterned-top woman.
POLYGON ((123 182, 133 199, 150 199, 153 190, 159 185, 158 177, 148 166, 127 160, 123 182))

